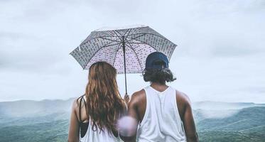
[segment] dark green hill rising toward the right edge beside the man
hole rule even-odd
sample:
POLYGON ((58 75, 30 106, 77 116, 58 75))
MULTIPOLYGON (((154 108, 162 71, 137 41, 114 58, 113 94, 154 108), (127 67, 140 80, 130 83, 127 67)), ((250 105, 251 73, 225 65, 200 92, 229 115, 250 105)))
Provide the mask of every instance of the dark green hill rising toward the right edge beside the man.
POLYGON ((240 109, 222 119, 197 123, 200 141, 265 141, 265 107, 240 109))

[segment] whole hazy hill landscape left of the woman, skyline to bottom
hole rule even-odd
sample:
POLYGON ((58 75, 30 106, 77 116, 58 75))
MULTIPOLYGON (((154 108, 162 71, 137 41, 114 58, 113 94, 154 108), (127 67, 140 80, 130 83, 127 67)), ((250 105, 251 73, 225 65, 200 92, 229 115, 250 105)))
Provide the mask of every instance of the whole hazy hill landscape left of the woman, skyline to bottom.
POLYGON ((73 100, 0 102, 0 141, 67 141, 73 100))

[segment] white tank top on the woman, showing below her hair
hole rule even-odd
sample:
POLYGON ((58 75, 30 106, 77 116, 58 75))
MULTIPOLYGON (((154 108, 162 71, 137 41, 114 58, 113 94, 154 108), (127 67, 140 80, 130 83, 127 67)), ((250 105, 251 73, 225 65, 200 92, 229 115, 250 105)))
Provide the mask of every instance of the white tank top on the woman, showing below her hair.
POLYGON ((87 127, 87 133, 85 133, 85 136, 81 138, 80 135, 80 142, 119 142, 121 141, 121 138, 115 137, 112 132, 108 133, 107 129, 104 129, 104 131, 101 131, 99 133, 99 129, 97 131, 92 130, 92 121, 88 124, 87 127))

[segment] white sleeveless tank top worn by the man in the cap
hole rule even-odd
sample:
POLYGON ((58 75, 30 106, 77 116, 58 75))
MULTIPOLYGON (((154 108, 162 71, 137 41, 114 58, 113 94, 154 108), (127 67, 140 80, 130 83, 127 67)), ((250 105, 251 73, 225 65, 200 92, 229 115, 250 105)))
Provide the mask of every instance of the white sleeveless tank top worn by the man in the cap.
POLYGON ((146 92, 146 112, 139 124, 138 141, 186 141, 183 122, 178 114, 175 89, 168 87, 165 91, 158 92, 148 86, 144 90, 146 92))

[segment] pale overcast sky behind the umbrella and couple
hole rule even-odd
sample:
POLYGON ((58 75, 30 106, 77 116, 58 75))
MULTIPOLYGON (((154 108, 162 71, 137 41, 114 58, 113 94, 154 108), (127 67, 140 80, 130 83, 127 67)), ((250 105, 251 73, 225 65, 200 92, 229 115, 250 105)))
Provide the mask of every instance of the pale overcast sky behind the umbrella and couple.
MULTIPOLYGON (((10 0, 0 24, 0 101, 80 96, 88 72, 69 53, 98 28, 141 24, 178 45, 170 85, 192 102, 265 103, 263 0, 10 0)), ((148 85, 128 81, 130 94, 148 85)))

